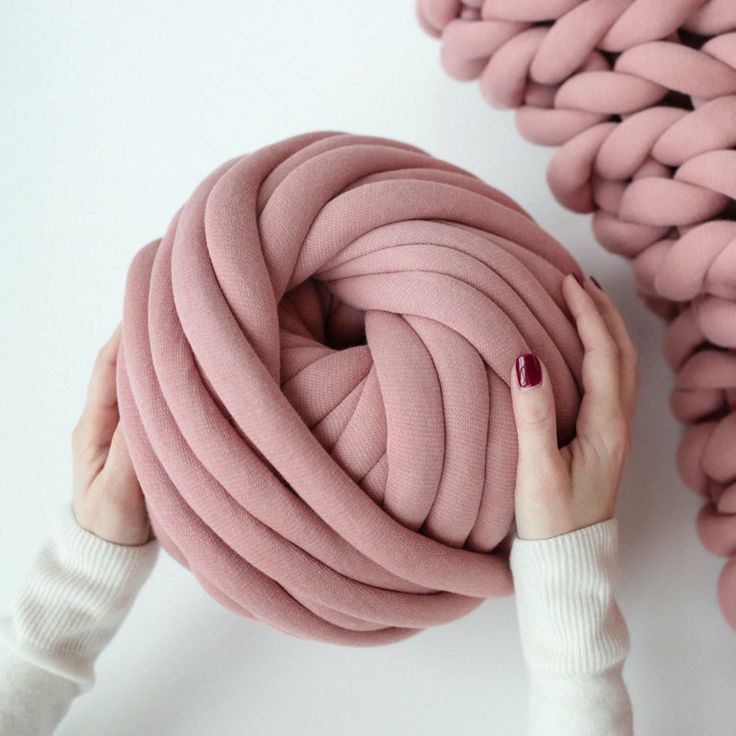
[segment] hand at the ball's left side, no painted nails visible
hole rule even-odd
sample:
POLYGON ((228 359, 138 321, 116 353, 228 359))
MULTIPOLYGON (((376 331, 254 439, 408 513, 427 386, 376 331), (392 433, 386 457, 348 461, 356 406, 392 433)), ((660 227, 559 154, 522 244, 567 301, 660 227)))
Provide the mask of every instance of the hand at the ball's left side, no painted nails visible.
POLYGON ((115 367, 121 332, 118 325, 97 354, 84 411, 72 431, 72 506, 79 525, 92 534, 138 545, 151 538, 151 526, 118 413, 115 367))

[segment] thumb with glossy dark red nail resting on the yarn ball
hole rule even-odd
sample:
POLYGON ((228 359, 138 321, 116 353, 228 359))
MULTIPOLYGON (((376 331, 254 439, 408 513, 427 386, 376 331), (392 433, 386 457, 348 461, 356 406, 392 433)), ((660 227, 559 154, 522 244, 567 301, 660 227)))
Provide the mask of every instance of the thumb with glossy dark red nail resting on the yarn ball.
POLYGON ((559 456, 555 401, 547 370, 535 355, 520 355, 511 375, 511 402, 519 443, 519 465, 559 456))

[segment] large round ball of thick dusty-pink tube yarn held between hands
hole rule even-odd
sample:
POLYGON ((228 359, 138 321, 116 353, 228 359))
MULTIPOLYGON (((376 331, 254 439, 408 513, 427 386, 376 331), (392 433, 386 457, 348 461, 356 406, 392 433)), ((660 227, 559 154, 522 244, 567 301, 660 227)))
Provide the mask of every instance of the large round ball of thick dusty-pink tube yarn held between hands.
POLYGON ((511 592, 519 353, 574 431, 572 257, 412 146, 228 161, 128 273, 118 395, 165 549, 227 608, 384 644, 511 592))

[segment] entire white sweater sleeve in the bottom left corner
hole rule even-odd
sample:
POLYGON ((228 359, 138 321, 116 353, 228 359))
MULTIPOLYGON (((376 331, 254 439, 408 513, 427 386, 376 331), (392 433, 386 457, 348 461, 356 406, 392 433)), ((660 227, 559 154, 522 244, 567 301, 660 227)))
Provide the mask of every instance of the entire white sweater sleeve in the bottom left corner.
POLYGON ((0 733, 53 733, 94 683, 94 663, 157 557, 158 542, 112 544, 61 509, 12 616, 0 618, 0 733))

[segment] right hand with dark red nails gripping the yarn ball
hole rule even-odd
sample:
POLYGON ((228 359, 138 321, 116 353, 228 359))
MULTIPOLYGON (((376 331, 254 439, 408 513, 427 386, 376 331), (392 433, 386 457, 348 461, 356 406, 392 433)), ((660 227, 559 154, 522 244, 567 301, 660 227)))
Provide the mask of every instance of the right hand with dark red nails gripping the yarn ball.
POLYGON ((611 299, 572 274, 562 293, 583 343, 583 399, 576 437, 558 449, 552 386, 542 362, 519 356, 511 397, 519 441, 516 528, 521 539, 547 539, 613 516, 631 447, 639 378, 636 350, 611 299))

